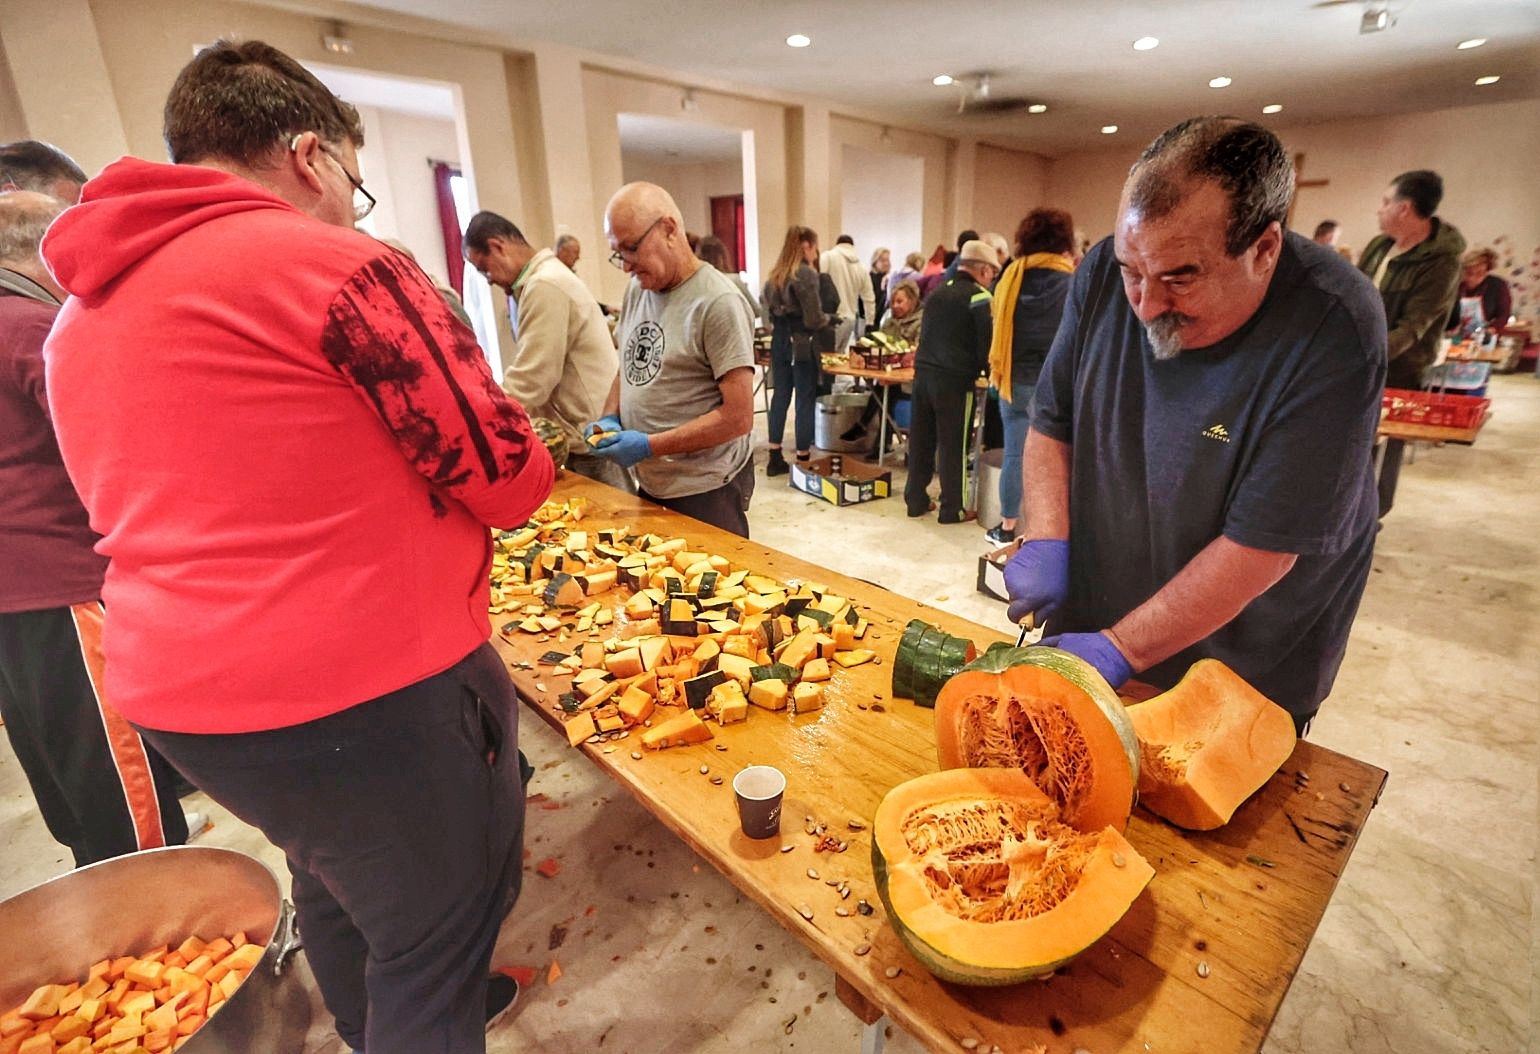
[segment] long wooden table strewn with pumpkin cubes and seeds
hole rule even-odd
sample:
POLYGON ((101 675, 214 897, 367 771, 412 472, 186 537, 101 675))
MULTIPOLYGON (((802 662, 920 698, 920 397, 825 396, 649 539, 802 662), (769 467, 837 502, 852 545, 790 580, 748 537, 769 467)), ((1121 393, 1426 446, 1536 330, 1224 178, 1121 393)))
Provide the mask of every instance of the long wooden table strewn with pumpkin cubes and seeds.
MULTIPOLYGON (((1003 635, 882 589, 756 545, 571 473, 557 498, 584 495, 590 530, 685 536, 735 567, 776 578, 822 582, 858 601, 872 621, 864 641, 879 664, 839 670, 825 684, 822 710, 787 717, 750 707, 747 723, 716 729, 710 743, 644 752, 638 737, 579 749, 664 826, 756 900, 835 971, 836 992, 867 1029, 864 1051, 881 1049, 882 1017, 927 1048, 959 1051, 978 1039, 1012 1054, 1078 1048, 1112 1051, 1255 1052, 1300 966, 1352 854, 1386 774, 1312 743, 1300 743, 1283 769, 1223 829, 1187 834, 1137 811, 1129 840, 1155 868, 1155 880, 1112 932, 1047 982, 962 988, 927 974, 887 925, 872 881, 870 821, 884 792, 935 770, 932 712, 889 698, 893 649, 910 618, 924 618, 981 647, 1003 635), (727 750, 719 750, 718 744, 727 750), (725 777, 721 786, 701 775, 725 777), (787 777, 781 835, 745 838, 733 806, 732 777, 747 764, 773 764, 787 777), (815 854, 804 817, 849 840, 844 854, 815 854), (850 831, 856 818, 869 826, 850 831), (792 852, 781 852, 793 846, 792 852), (816 868, 821 880, 810 880, 816 868), (847 878, 849 900, 822 878, 847 878), (876 912, 849 918, 844 905, 870 901, 876 912), (799 906, 812 908, 804 920, 799 906), (870 943, 870 954, 855 948, 870 943), (1198 965, 1207 965, 1200 977, 1198 965), (886 969, 898 966, 896 978, 886 969), (1146 1046, 1147 1045, 1147 1046, 1146 1046)), ((611 595, 616 603, 621 592, 611 595)), ((494 615, 494 627, 508 621, 494 615)), ((534 661, 553 643, 528 633, 494 635, 508 660, 534 661), (511 639, 510 639, 511 638, 511 639)), ((570 647, 570 646, 568 646, 570 647)), ((553 727, 551 707, 568 678, 551 667, 514 669, 519 697, 553 727), (544 690, 536 687, 544 686, 544 690)), ((678 978, 678 985, 693 978, 678 978)), ((667 986, 667 985, 665 985, 667 986)))

